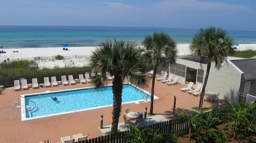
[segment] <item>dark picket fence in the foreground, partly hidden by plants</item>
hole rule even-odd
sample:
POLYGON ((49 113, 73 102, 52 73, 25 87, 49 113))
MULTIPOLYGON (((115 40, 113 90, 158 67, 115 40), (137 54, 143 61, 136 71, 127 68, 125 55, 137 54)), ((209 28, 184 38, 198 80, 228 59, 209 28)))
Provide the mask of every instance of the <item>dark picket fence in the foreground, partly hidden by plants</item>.
MULTIPOLYGON (((229 107, 225 107, 229 108, 229 107)), ((224 109, 224 108, 223 108, 224 109)), ((210 114, 211 111, 205 112, 207 115, 210 114)), ((214 114, 217 114, 219 112, 219 110, 215 110, 214 114)), ((221 116, 219 116, 219 119, 225 119, 227 117, 231 116, 231 114, 228 113, 224 113, 221 116)), ((181 119, 181 118, 176 118, 173 120, 167 120, 161 123, 156 123, 153 125, 149 125, 149 126, 144 126, 143 128, 150 128, 150 129, 154 129, 154 131, 158 130, 158 134, 170 134, 170 133, 174 133, 176 134, 178 137, 188 134, 189 133, 189 122, 181 119)), ((125 139, 125 135, 131 133, 134 133, 134 130, 128 130, 128 131, 124 131, 124 132, 120 132, 117 134, 110 134, 110 135, 105 135, 105 136, 101 136, 101 137, 96 137, 96 138, 92 138, 83 142, 79 142, 79 143, 127 143, 128 140, 125 139)), ((78 142, 76 142, 78 143, 78 142)))

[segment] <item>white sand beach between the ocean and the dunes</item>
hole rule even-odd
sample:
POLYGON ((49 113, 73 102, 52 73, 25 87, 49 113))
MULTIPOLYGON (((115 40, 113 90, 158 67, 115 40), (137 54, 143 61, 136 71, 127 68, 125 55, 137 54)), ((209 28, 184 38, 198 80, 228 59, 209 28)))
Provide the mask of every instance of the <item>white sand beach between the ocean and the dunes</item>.
MULTIPOLYGON (((0 62, 9 58, 12 60, 36 60, 40 68, 71 67, 89 65, 89 57, 97 47, 68 47, 68 51, 62 47, 48 48, 22 48, 22 49, 1 49, 6 53, 0 54, 0 62), (15 52, 14 52, 15 51, 15 52), (17 52, 18 51, 18 52, 17 52), (62 55, 65 60, 55 60, 55 56, 62 55), (34 57, 40 57, 34 58, 34 57)), ((239 44, 238 50, 256 50, 256 44, 239 44)), ((177 44, 179 56, 191 54, 189 44, 177 44)))

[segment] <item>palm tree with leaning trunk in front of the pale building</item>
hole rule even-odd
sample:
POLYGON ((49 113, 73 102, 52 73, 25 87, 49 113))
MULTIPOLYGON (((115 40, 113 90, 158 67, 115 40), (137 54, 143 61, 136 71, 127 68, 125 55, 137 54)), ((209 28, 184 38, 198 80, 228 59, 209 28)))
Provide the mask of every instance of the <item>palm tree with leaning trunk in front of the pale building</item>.
POLYGON ((208 29, 200 29, 192 38, 190 45, 192 53, 201 59, 206 58, 208 60, 205 80, 202 86, 202 93, 199 102, 199 108, 201 111, 211 62, 214 62, 215 67, 218 67, 224 57, 235 52, 233 45, 233 38, 227 35, 226 31, 221 28, 210 27, 208 29))

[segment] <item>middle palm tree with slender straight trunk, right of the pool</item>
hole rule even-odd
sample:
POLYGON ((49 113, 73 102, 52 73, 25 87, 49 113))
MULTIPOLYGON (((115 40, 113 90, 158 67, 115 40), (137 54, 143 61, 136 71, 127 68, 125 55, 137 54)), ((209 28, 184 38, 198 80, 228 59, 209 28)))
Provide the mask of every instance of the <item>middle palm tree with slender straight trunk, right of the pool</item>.
POLYGON ((152 76, 151 89, 151 104, 150 114, 153 113, 154 90, 155 90, 155 75, 160 66, 169 66, 176 63, 177 49, 176 42, 168 34, 164 32, 155 32, 152 36, 146 36, 142 44, 146 47, 143 54, 146 58, 146 63, 153 67, 154 74, 152 76))

